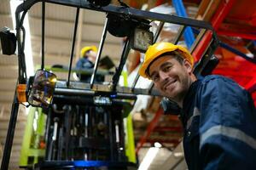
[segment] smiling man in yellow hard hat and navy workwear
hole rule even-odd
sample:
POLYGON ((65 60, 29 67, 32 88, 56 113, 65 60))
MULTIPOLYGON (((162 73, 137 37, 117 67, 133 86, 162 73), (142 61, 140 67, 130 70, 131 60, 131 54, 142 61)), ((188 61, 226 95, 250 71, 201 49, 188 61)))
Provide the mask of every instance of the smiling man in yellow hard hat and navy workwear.
POLYGON ((186 48, 150 46, 139 73, 182 108, 184 155, 190 169, 256 169, 256 113, 250 94, 236 82, 193 74, 186 48))

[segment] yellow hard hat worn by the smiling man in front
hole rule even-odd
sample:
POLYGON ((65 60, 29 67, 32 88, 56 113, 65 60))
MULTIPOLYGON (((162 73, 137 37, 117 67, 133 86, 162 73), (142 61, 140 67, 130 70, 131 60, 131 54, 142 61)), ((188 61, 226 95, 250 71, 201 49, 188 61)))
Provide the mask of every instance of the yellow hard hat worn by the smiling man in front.
POLYGON ((189 51, 186 48, 183 48, 180 45, 174 45, 171 42, 157 42, 149 46, 148 50, 146 51, 143 65, 139 69, 139 74, 142 77, 149 78, 146 71, 151 62, 154 61, 154 59, 158 58, 161 54, 172 51, 178 51, 179 53, 181 53, 183 58, 188 59, 189 63, 193 67, 194 58, 191 54, 189 54, 189 51))

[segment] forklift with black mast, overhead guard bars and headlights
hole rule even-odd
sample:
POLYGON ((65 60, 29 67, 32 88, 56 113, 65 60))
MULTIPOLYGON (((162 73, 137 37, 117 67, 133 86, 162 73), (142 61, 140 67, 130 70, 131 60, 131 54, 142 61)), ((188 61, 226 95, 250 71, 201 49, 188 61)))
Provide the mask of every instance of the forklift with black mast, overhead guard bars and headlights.
MULTIPOLYGON (((119 1, 120 2, 120 1, 119 1)), ((1 32, 4 54, 15 54, 17 44, 19 71, 15 97, 9 121, 9 130, 3 151, 1 170, 8 169, 9 158, 15 133, 15 123, 19 105, 30 105, 37 114, 47 118, 44 122, 43 137, 44 156, 40 156, 35 164, 20 166, 25 169, 137 169, 137 160, 132 141, 132 130, 126 129, 124 118, 130 118, 131 109, 138 94, 160 96, 151 83, 149 88, 137 88, 139 75, 135 77, 131 87, 127 83, 120 84, 123 77, 125 61, 130 49, 145 53, 149 45, 158 41, 160 32, 166 23, 179 26, 172 43, 177 44, 183 38, 186 27, 195 30, 196 39, 189 51, 194 52, 201 39, 210 32, 208 42, 200 60, 195 66, 196 76, 205 76, 218 65, 218 59, 213 55, 218 47, 218 37, 212 26, 201 20, 192 20, 170 14, 159 14, 130 8, 120 2, 120 6, 110 4, 109 0, 26 0, 15 12, 16 35, 8 29, 1 32), (70 62, 67 67, 67 79, 61 80, 55 76, 55 70, 46 69, 44 65, 44 48, 42 48, 41 68, 33 77, 26 76, 24 53, 26 30, 23 20, 28 10, 35 3, 42 3, 42 47, 44 47, 45 3, 55 3, 77 9, 74 21, 73 44, 70 62), (102 38, 99 42, 96 63, 90 71, 76 71, 72 67, 73 49, 79 22, 79 10, 93 10, 106 14, 102 38), (152 29, 152 23, 157 28, 152 29), (100 71, 98 65, 102 57, 102 49, 107 34, 114 37, 125 37, 119 65, 109 82, 96 82, 98 75, 106 76, 108 71, 100 71), (80 72, 90 75, 90 82, 71 81, 71 73, 80 72), (129 138, 130 139, 126 139, 129 138), (128 142, 127 142, 128 141, 128 142), (130 145, 130 152, 127 147, 130 145)), ((177 105, 163 99, 164 110, 178 112, 177 105)), ((132 125, 130 125, 132 127, 132 125)), ((43 128, 42 127, 42 128, 43 128)), ((41 131, 40 131, 41 132, 41 131)), ((42 133, 42 132, 41 132, 42 133)), ((34 145, 40 145, 40 138, 34 139, 34 145)), ((32 161, 35 162, 35 161, 32 161)))

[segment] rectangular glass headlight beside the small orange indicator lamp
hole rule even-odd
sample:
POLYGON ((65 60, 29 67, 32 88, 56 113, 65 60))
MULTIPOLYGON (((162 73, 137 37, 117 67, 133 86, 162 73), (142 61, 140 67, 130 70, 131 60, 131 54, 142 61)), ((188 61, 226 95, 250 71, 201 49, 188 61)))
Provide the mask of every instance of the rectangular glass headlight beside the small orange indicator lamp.
POLYGON ((54 73, 37 71, 28 96, 28 103, 32 106, 47 108, 53 98, 56 80, 54 73))

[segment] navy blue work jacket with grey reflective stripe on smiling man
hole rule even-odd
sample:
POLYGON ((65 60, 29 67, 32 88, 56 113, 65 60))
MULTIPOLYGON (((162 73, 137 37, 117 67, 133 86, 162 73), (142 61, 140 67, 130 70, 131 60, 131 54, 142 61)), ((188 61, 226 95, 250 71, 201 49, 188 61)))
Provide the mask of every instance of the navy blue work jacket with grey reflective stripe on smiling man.
POLYGON ((183 100, 183 149, 189 170, 256 170, 256 113, 236 82, 207 76, 183 100))

